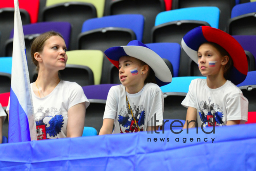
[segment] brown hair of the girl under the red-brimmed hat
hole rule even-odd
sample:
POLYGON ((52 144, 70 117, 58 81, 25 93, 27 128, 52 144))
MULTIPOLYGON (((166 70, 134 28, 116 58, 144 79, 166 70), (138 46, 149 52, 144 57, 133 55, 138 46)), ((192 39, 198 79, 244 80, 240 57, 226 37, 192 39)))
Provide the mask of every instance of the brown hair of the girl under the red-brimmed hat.
POLYGON ((228 56, 228 63, 225 65, 224 67, 224 78, 227 80, 228 79, 228 75, 230 73, 231 68, 234 66, 233 60, 231 58, 231 56, 229 55, 229 53, 222 48, 219 44, 213 43, 213 42, 208 42, 209 44, 211 44, 214 48, 216 48, 221 56, 228 56))

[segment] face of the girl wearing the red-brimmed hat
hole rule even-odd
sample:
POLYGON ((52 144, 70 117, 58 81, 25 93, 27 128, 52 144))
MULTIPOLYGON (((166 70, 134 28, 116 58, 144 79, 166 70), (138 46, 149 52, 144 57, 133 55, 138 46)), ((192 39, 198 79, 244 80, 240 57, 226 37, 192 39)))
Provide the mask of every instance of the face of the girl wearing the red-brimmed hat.
POLYGON ((211 44, 204 43, 198 49, 198 68, 202 75, 217 75, 223 65, 223 56, 211 44))

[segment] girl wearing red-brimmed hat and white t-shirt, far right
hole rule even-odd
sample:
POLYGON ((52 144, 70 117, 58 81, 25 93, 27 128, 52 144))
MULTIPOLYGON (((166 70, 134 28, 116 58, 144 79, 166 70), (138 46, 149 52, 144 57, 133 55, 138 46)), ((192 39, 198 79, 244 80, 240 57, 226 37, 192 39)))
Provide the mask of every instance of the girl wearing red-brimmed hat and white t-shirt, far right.
POLYGON ((206 76, 192 80, 182 101, 188 108, 186 120, 197 120, 189 123, 189 128, 245 123, 248 100, 235 86, 244 81, 248 70, 242 46, 226 32, 200 26, 183 37, 182 47, 206 76))

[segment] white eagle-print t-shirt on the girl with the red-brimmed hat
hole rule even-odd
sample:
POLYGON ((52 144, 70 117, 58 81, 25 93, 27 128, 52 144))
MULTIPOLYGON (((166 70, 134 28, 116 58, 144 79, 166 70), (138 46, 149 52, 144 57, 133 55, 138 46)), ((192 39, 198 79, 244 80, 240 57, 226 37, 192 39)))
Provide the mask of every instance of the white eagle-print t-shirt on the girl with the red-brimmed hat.
POLYGON ((213 114, 215 113, 216 126, 227 125, 227 121, 241 120, 245 123, 248 116, 248 100, 242 91, 231 81, 217 88, 210 89, 206 79, 194 79, 189 85, 189 92, 181 103, 183 106, 197 109, 197 123, 201 127, 213 126, 213 114))

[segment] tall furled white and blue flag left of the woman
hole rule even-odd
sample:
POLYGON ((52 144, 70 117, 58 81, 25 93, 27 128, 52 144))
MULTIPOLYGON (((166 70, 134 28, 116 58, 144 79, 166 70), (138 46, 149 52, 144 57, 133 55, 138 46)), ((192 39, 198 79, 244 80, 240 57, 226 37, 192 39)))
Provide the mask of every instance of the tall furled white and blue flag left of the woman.
POLYGON ((24 142, 37 139, 24 34, 18 0, 14 0, 14 8, 12 80, 8 136, 9 142, 24 142))

